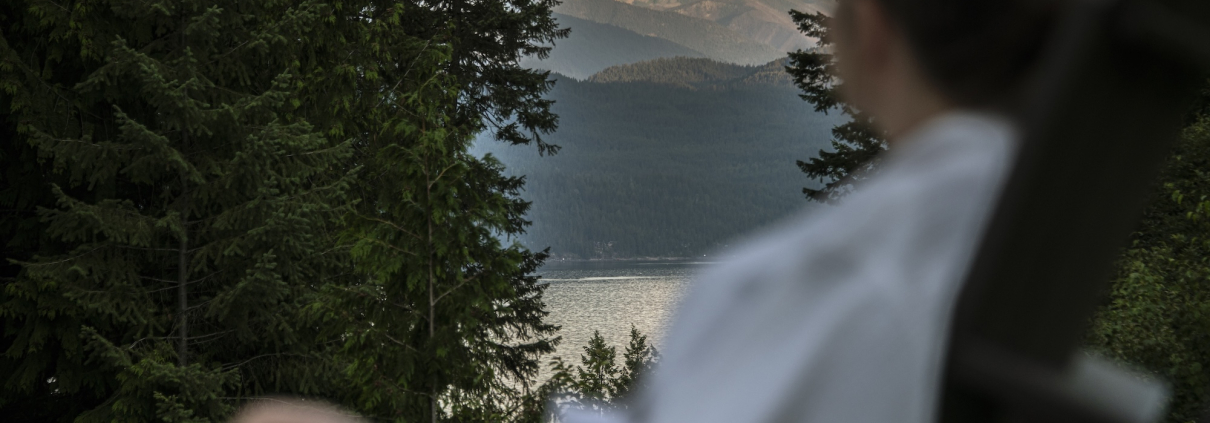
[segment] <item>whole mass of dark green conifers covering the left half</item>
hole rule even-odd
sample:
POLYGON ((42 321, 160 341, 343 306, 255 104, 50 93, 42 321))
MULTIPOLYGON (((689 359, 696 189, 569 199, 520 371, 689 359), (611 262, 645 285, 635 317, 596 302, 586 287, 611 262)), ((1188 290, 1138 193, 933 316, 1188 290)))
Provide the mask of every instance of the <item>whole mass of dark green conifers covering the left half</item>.
POLYGON ((523 180, 466 150, 555 151, 515 64, 551 6, 0 5, 0 415, 511 418, 555 341, 544 255, 500 241, 523 180))

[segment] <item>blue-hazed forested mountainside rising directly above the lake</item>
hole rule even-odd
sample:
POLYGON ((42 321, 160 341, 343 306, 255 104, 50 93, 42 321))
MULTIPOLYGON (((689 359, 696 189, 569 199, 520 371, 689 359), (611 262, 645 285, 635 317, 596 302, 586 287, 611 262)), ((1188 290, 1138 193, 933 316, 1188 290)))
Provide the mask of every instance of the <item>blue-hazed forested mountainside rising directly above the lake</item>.
POLYGON ((658 59, 557 79, 548 98, 559 131, 548 141, 558 155, 485 139, 476 147, 526 176, 534 226, 520 241, 554 257, 716 253, 808 207, 795 158, 825 147, 841 121, 812 111, 782 62, 658 59))

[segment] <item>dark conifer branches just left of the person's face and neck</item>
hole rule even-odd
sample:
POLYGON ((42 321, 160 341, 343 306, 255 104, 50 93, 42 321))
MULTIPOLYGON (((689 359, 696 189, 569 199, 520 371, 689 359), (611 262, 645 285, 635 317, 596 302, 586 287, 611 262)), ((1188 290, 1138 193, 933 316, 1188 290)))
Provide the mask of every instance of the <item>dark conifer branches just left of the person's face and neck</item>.
POLYGON ((851 192, 853 184, 877 172, 878 153, 887 149, 886 134, 874 126, 868 114, 853 109, 837 97, 841 83, 834 77, 832 57, 829 53, 829 17, 818 12, 797 11, 790 11, 790 17, 803 34, 819 39, 814 50, 790 53, 790 65, 785 66, 794 76, 794 83, 802 91, 800 95, 813 104, 816 111, 839 109, 852 117, 832 129, 831 151, 819 150, 816 157, 797 162, 807 176, 824 184, 822 189, 805 187, 802 193, 814 201, 832 203, 851 192))

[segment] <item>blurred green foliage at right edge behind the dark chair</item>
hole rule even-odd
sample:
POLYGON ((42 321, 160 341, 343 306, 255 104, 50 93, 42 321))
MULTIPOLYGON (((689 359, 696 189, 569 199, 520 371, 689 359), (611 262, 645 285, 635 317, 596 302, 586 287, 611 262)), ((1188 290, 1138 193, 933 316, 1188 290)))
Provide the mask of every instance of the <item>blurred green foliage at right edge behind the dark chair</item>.
POLYGON ((1090 346, 1174 386, 1168 422, 1192 422, 1210 399, 1210 118, 1186 129, 1090 346))

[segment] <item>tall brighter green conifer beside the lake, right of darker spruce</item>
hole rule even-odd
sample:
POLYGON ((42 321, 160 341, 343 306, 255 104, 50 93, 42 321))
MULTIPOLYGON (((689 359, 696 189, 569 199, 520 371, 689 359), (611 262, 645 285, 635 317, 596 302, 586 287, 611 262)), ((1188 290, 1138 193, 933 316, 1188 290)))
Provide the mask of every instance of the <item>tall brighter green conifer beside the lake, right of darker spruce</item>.
MULTIPOLYGON (((513 419, 557 328, 542 323, 546 257, 512 242, 524 180, 467 152, 490 131, 555 151, 546 73, 518 65, 564 36, 553 1, 345 4, 365 30, 344 46, 357 86, 339 104, 362 167, 345 241, 352 283, 316 303, 359 388, 346 404, 401 422, 513 419), (374 93, 367 95, 364 93, 374 93)), ((318 95, 318 94, 317 94, 318 95)))

